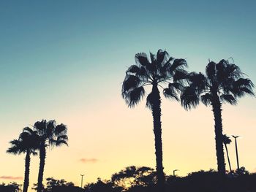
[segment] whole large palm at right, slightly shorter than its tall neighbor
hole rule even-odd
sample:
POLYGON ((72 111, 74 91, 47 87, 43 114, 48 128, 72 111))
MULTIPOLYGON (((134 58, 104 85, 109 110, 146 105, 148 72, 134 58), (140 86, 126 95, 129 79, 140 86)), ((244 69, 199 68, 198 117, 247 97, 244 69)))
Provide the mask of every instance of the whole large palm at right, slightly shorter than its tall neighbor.
POLYGON ((225 160, 222 143, 222 103, 237 104, 238 98, 249 94, 254 96, 251 80, 244 78, 238 66, 222 59, 218 64, 210 61, 206 75, 191 72, 187 76, 189 85, 181 93, 181 104, 186 110, 196 107, 201 100, 211 105, 215 121, 215 141, 218 172, 225 174, 225 160))

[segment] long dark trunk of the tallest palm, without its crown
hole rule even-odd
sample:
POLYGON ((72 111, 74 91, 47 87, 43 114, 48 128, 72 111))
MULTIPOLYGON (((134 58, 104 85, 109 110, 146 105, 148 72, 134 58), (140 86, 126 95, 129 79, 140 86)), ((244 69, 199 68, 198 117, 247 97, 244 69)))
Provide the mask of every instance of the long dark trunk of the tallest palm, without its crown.
POLYGON ((165 184, 165 174, 163 172, 164 168, 162 166, 161 98, 157 85, 153 85, 152 93, 154 95, 152 115, 154 121, 154 145, 157 160, 157 185, 159 187, 159 191, 163 191, 165 184))

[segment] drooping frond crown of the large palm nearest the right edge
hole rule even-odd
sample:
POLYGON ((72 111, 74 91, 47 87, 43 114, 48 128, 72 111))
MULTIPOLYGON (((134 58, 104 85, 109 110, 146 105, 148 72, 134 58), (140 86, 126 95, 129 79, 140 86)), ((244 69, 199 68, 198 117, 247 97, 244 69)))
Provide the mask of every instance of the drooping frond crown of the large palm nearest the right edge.
POLYGON ((206 66, 206 75, 191 72, 187 76, 189 86, 181 94, 181 104, 188 110, 196 107, 201 100, 203 104, 211 105, 214 97, 220 101, 237 104, 238 98, 249 94, 254 96, 254 84, 244 78, 236 64, 222 59, 218 64, 214 61, 206 66))

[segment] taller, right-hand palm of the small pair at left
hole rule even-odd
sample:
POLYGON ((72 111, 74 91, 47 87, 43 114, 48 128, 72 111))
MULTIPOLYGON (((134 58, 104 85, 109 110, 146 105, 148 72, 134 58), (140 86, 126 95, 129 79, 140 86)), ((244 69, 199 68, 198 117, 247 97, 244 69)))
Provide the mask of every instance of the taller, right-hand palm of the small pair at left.
POLYGON ((39 136, 39 174, 37 192, 42 192, 42 178, 45 169, 45 157, 47 147, 59 147, 67 145, 67 126, 56 125, 55 120, 42 120, 34 123, 34 130, 39 136))

